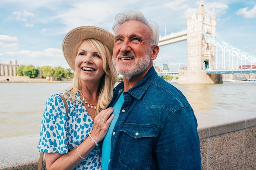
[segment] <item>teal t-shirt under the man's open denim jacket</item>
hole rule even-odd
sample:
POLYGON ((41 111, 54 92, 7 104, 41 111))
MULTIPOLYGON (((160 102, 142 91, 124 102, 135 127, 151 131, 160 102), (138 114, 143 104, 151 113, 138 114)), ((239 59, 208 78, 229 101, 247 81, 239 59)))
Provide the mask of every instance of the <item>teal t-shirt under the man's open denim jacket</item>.
POLYGON ((110 150, 111 150, 111 137, 112 137, 112 133, 113 133, 115 124, 117 122, 117 119, 119 117, 119 112, 124 103, 124 94, 123 93, 119 96, 117 102, 113 106, 113 108, 114 108, 113 114, 115 114, 115 117, 112 120, 112 122, 110 123, 108 132, 103 140, 102 158, 101 158, 102 170, 108 170, 108 162, 110 159, 110 150))

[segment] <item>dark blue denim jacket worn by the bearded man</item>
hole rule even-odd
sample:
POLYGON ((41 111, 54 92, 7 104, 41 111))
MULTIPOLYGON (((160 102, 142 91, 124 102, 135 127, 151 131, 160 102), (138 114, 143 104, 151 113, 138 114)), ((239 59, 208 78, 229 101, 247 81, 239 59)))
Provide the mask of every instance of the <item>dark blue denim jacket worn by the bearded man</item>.
MULTIPOLYGON (((111 107, 124 91, 114 88, 111 107)), ((104 159, 104 158, 103 158, 104 159)), ((200 170, 197 120, 185 96, 150 68, 124 92, 111 138, 109 170, 200 170)))

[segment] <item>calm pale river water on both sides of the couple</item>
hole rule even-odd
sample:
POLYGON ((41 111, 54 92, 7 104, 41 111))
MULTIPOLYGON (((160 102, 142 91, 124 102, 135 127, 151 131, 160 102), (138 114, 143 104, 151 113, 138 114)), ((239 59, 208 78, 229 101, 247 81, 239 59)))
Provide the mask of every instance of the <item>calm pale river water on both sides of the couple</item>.
MULTIPOLYGON (((47 98, 70 87, 71 84, 0 83, 0 138, 39 134, 47 98)), ((256 82, 171 84, 186 96, 195 114, 256 106, 256 82)))

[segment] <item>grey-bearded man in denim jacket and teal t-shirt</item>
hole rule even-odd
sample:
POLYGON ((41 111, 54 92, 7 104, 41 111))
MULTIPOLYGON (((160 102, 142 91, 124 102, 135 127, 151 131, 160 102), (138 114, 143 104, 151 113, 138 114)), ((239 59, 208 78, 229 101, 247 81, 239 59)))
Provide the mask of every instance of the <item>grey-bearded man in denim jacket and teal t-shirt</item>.
POLYGON ((139 11, 118 14, 112 61, 124 81, 108 107, 103 170, 200 170, 197 120, 185 96, 157 76, 159 28, 139 11))

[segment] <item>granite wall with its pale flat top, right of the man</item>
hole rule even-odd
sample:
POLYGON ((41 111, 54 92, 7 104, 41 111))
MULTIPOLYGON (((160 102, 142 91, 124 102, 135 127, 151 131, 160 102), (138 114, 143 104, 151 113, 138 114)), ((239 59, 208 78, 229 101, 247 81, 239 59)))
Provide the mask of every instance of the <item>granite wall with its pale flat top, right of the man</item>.
POLYGON ((256 107, 196 114, 202 170, 256 169, 256 107))

